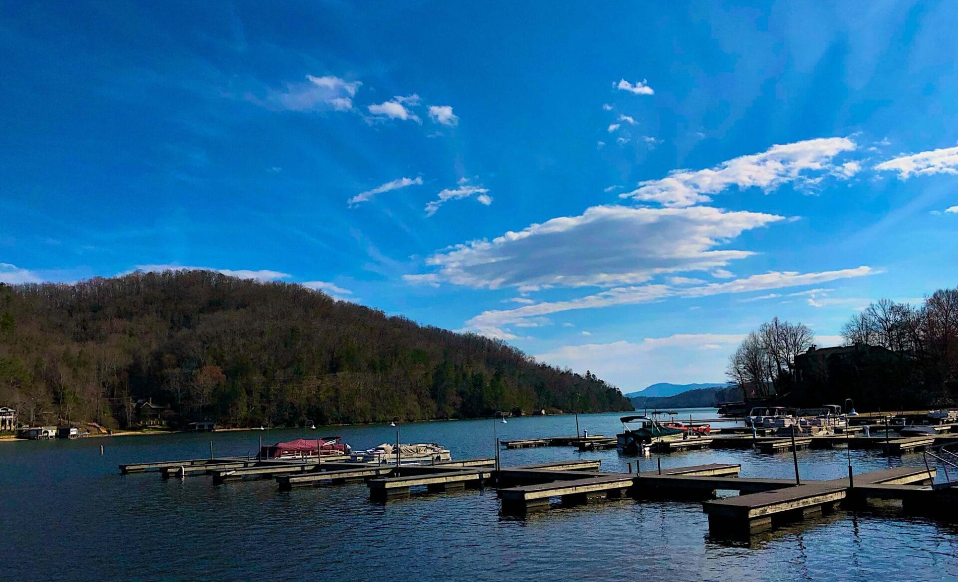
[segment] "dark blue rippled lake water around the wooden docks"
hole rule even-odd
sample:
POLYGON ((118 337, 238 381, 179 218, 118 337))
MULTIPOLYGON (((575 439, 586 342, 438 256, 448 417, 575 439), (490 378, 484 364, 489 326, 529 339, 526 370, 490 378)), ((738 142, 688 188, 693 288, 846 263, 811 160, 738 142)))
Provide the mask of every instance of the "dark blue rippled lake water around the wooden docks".
MULTIPOLYGON (((689 411, 683 411, 688 418, 689 411)), ((692 411, 714 417, 714 410, 692 411)), ((590 435, 614 436, 620 414, 581 414, 590 435)), ((400 425, 403 442, 438 442, 455 459, 491 457, 504 439, 573 435, 571 415, 400 425)), ((895 508, 837 511, 753 536, 713 540, 697 503, 598 502, 500 515, 495 492, 422 495, 374 504, 364 484, 279 492, 275 481, 213 485, 209 477, 121 476, 125 462, 255 453, 272 443, 339 434, 354 449, 396 429, 358 426, 0 444, 0 579, 16 580, 958 580, 958 526, 895 508), (104 445, 104 454, 100 446, 104 445)), ((798 454, 804 479, 847 475, 844 450, 798 454)), ((502 451, 504 465, 602 459, 615 450, 502 451)), ((855 473, 924 466, 922 455, 852 451, 855 473)), ((665 467, 741 463, 742 476, 793 477, 790 454, 705 450, 664 455, 665 467)), ((652 469, 655 458, 643 458, 652 469)))

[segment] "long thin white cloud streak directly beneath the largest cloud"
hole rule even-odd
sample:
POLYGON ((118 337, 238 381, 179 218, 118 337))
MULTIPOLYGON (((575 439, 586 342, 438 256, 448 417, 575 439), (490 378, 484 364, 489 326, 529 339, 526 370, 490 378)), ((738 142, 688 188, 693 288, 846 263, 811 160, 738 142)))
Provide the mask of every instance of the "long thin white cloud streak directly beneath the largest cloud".
POLYGON ((568 301, 539 302, 524 305, 509 310, 485 311, 466 323, 466 329, 490 337, 509 339, 511 335, 508 326, 530 317, 541 317, 552 313, 571 311, 574 309, 593 309, 611 307, 615 305, 632 305, 662 301, 668 298, 696 298, 728 293, 748 293, 813 285, 817 283, 865 277, 875 275, 880 271, 868 266, 855 269, 841 269, 837 271, 823 271, 817 273, 797 273, 793 271, 773 271, 763 275, 752 275, 745 279, 731 280, 721 283, 708 283, 697 287, 675 288, 663 284, 647 284, 630 287, 615 287, 568 301))

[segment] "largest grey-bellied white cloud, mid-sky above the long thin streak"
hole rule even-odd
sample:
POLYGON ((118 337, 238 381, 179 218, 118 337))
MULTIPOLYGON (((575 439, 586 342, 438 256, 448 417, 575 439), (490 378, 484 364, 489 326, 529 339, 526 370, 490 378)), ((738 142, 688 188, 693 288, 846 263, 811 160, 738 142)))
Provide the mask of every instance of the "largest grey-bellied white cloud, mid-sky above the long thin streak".
POLYGON ((596 206, 491 241, 456 245, 426 264, 438 269, 439 280, 477 288, 630 284, 749 257, 747 251, 715 247, 784 219, 709 207, 596 206))

